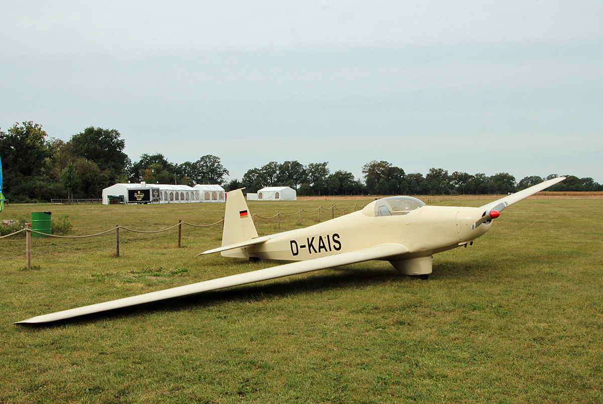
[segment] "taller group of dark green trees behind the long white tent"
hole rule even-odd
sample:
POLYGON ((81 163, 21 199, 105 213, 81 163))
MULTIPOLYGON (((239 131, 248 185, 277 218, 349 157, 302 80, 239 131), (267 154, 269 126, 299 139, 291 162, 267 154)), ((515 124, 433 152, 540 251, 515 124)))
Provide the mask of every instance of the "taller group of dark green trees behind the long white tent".
POLYGON ((34 122, 0 129, 4 195, 9 202, 53 198, 100 198, 116 183, 222 184, 229 174, 219 157, 171 163, 160 154, 143 154, 132 163, 119 131, 87 127, 64 141, 48 136, 34 122))

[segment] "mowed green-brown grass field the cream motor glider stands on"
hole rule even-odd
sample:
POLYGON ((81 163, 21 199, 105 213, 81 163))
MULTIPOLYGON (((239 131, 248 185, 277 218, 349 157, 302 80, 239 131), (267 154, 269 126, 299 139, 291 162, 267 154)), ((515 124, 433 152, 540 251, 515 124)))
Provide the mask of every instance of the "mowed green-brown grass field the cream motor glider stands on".
MULTIPOLYGON (((366 201, 335 201, 352 207, 366 201)), ((332 201, 252 202, 252 213, 332 201)), ((480 206, 484 200, 446 201, 480 206)), ((0 402, 600 403, 600 200, 526 200, 472 247, 434 256, 427 281, 387 262, 157 302, 42 327, 35 315, 276 265, 194 257, 221 227, 89 239, 0 240, 0 402)), ((209 224, 224 204, 11 205, 69 214, 74 235, 115 224, 209 224)), ((341 213, 337 213, 341 215, 341 213)), ((324 221, 330 211, 321 212, 324 221)), ((303 213, 303 226, 317 213, 303 213)), ((299 227, 281 217, 281 230, 299 227)), ((257 219, 260 235, 276 218, 257 219)))

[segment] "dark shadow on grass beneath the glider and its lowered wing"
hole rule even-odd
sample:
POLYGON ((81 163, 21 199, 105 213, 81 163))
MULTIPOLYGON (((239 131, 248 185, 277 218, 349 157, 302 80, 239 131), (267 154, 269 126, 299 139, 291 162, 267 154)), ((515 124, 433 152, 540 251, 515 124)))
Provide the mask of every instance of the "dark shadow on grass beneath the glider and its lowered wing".
MULTIPOLYGON (((454 278, 457 282, 468 282, 474 271, 480 271, 485 264, 470 265, 458 262, 434 264, 434 274, 429 279, 446 280, 454 278)), ((26 329, 46 329, 66 324, 87 324, 103 319, 118 319, 126 317, 141 317, 154 312, 180 312, 190 309, 201 309, 222 305, 231 301, 266 301, 291 295, 317 294, 333 289, 368 288, 370 286, 386 285, 392 282, 430 282, 414 276, 399 274, 383 262, 381 268, 357 268, 355 265, 330 268, 329 273, 314 273, 303 278, 283 277, 282 279, 266 280, 248 285, 233 286, 215 291, 201 292, 195 295, 174 297, 127 308, 68 318, 42 324, 19 324, 26 329)), ((101 302, 95 302, 101 303, 101 302)), ((90 303, 94 304, 94 303, 90 303)))

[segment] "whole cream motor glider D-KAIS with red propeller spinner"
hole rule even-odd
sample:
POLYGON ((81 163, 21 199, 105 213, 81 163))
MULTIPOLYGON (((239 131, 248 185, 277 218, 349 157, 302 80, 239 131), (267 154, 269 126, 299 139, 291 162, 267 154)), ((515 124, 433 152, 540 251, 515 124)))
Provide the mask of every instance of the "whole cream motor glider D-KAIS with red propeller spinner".
POLYGON ((433 254, 472 243, 490 230, 492 220, 505 207, 564 179, 544 181, 481 207, 427 206, 412 197, 382 198, 358 212, 264 237, 257 235, 243 193, 237 189, 228 193, 222 246, 201 254, 220 252, 226 257, 295 262, 40 315, 15 324, 65 320, 373 259, 389 261, 402 274, 427 279, 433 254))

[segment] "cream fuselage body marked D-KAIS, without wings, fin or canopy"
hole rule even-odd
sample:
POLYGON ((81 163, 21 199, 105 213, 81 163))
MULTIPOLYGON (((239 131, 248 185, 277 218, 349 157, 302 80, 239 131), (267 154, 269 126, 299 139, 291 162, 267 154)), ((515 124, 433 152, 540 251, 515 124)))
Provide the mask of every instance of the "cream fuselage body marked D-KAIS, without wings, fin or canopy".
POLYGON ((223 251, 222 254, 300 261, 397 243, 405 245, 409 252, 391 259, 410 259, 465 245, 491 227, 488 222, 471 229, 484 213, 477 207, 424 205, 406 215, 376 216, 372 214, 373 204, 305 229, 268 236, 270 240, 262 244, 223 251))

